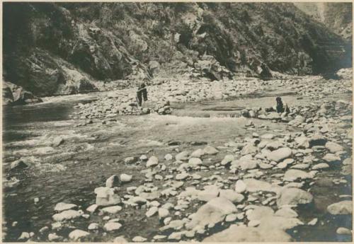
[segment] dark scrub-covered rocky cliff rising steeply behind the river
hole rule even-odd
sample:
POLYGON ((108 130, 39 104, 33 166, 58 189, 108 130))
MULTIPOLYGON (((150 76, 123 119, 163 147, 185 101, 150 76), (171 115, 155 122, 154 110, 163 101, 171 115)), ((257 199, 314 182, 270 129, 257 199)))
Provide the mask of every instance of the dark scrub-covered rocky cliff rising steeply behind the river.
POLYGON ((3 15, 4 78, 37 95, 149 79, 156 62, 166 74, 210 60, 236 75, 351 66, 341 37, 293 4, 4 3, 3 15))

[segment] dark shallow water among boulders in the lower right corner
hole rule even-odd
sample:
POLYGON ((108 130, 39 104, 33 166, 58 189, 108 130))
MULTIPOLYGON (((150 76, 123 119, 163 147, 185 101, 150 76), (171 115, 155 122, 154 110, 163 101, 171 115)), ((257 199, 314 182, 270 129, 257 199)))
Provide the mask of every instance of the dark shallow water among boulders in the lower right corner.
MULTIPOLYGON (((350 150, 350 149, 348 149, 350 150)), ((350 153, 351 155, 351 153, 350 153)), ((353 216, 350 214, 331 215, 327 207, 335 202, 351 200, 353 195, 352 176, 346 176, 346 183, 334 184, 334 179, 339 179, 341 175, 341 164, 331 165, 330 170, 323 171, 316 175, 314 185, 310 192, 314 196, 312 204, 297 207, 299 219, 304 223, 318 219, 314 226, 297 226, 289 231, 295 241, 311 242, 351 242, 351 235, 341 235, 336 233, 339 227, 353 229, 353 216), (342 196, 342 197, 340 197, 342 196), (348 197, 343 197, 348 196, 348 197)))

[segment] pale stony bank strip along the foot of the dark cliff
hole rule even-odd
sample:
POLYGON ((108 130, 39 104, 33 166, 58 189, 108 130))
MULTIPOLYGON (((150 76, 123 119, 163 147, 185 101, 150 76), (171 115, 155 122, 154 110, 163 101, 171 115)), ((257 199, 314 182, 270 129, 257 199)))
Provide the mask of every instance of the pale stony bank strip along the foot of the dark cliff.
MULTIPOLYGON (((267 95, 297 94, 298 99, 326 100, 333 94, 351 93, 351 70, 339 71, 345 78, 341 80, 326 80, 321 76, 286 76, 275 75, 275 79, 262 81, 256 78, 240 78, 210 82, 207 80, 171 80, 155 81, 158 85, 149 86, 149 100, 139 108, 136 102, 135 89, 118 90, 109 93, 104 98, 86 105, 79 104, 78 112, 73 118, 98 119, 115 115, 146 115, 157 112, 161 115, 170 114, 170 103, 190 103, 205 100, 232 100, 242 97, 260 97, 267 95)), ((273 105, 270 105, 272 107, 273 105)), ((255 114, 259 108, 250 105, 247 112, 255 114)), ((261 106, 262 107, 262 106, 261 106)), ((252 116, 251 116, 252 117, 252 116)))

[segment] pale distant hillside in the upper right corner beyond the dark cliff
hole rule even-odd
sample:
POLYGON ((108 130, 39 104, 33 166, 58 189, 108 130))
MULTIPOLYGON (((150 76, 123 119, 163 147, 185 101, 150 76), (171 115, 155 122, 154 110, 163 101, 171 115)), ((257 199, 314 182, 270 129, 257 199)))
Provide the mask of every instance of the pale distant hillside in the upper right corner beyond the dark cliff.
POLYGON ((351 42, 353 35, 352 3, 295 3, 295 6, 351 42))

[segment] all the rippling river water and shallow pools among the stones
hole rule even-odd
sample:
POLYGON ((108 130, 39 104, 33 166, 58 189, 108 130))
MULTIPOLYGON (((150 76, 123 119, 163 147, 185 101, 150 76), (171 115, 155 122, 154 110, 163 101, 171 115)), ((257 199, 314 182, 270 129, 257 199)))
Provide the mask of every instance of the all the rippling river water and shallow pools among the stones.
MULTIPOLYGON (((8 176, 8 164, 14 160, 21 157, 30 165, 16 173, 20 182, 15 187, 4 188, 6 241, 16 241, 22 231, 38 233, 43 226, 50 226, 58 202, 74 203, 86 209, 95 202, 93 190, 104 185, 110 175, 134 175, 134 180, 127 187, 143 183, 144 174, 138 172, 144 169, 144 165, 125 165, 122 161, 128 156, 154 154, 164 158, 166 153, 173 152, 177 147, 194 151, 205 144, 223 146, 228 141, 251 136, 255 131, 245 127, 249 120, 253 120, 257 128, 261 124, 268 126, 257 129, 258 134, 295 132, 293 127, 284 123, 239 117, 239 111, 250 104, 254 107, 270 107, 276 95, 282 95, 282 100, 290 105, 311 103, 310 99, 299 100, 291 93, 272 93, 258 98, 176 103, 172 104, 173 115, 118 116, 108 124, 95 122, 76 127, 79 122, 69 116, 74 111, 73 105, 99 99, 101 95, 105 94, 51 98, 38 105, 4 108, 4 178, 8 176), (52 146, 51 141, 56 136, 62 136, 64 144, 52 146), (38 203, 35 203, 35 198, 39 199, 38 203), (18 221, 18 224, 11 226, 13 221, 18 221)), ((338 97, 343 99, 341 95, 338 97)), ((219 157, 214 160, 221 160, 223 155, 219 157)), ((344 186, 333 185, 331 180, 340 177, 338 171, 335 169, 321 173, 320 178, 328 179, 328 182, 312 187, 314 206, 300 209, 299 219, 307 222, 317 217, 319 224, 292 230, 290 234, 295 240, 351 240, 351 237, 336 235, 338 226, 351 229, 351 218, 333 219, 326 214, 326 206, 336 202, 340 194, 352 194, 351 178, 344 186)), ((202 176, 208 174, 211 175, 200 173, 202 176)), ((227 174, 226 178, 230 176, 227 174)), ((122 233, 127 238, 137 235, 152 237, 156 234, 160 223, 149 220, 147 224, 144 212, 130 209, 120 214, 125 219, 122 233)), ((90 219, 90 222, 93 221, 95 219, 90 219)), ((87 221, 76 221, 73 225, 86 230, 87 221)), ((94 236, 92 240, 107 241, 113 237, 108 234, 94 236)))

